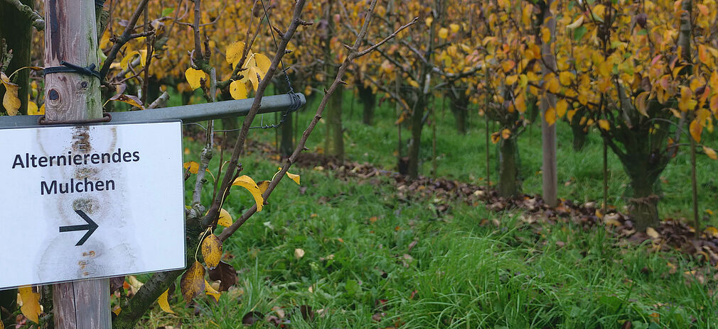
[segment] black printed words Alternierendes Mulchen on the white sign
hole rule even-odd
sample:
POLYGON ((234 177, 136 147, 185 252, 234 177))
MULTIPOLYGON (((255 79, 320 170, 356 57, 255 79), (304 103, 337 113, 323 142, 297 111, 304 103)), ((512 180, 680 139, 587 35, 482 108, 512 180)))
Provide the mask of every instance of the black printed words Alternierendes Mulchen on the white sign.
MULTIPOLYGON (((25 153, 24 156, 16 154, 12 163, 12 168, 46 168, 60 166, 87 166, 91 164, 103 163, 123 163, 139 161, 139 151, 122 152, 121 148, 113 153, 84 153, 73 154, 68 151, 67 154, 58 156, 36 156, 34 154, 25 153)), ((83 193, 92 191, 114 191, 115 181, 109 179, 105 181, 90 181, 88 178, 77 180, 70 178, 69 182, 58 182, 56 180, 40 182, 40 195, 50 194, 68 194, 83 193)))

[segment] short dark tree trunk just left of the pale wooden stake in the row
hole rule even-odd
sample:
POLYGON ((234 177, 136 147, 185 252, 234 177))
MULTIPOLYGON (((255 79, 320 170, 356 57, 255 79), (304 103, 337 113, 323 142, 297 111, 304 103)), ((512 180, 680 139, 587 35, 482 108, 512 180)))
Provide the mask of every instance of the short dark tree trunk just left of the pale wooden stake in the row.
POLYGON ((498 194, 510 198, 521 194, 518 178, 518 144, 516 138, 501 139, 498 146, 498 194))

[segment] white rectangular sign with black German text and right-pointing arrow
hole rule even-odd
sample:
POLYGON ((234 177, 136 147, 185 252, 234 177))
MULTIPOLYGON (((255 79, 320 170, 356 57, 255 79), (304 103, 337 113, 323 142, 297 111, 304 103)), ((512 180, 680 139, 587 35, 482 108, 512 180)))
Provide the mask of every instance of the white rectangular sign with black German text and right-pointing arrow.
POLYGON ((0 130, 0 289, 185 267, 182 125, 0 130))

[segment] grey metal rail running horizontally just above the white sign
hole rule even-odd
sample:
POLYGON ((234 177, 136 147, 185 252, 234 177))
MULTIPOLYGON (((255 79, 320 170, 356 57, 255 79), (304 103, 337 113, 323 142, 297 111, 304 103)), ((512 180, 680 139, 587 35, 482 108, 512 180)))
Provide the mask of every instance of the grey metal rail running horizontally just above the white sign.
MULTIPOLYGON (((299 96, 301 106, 307 103, 303 94, 299 96)), ((249 113, 254 102, 253 98, 244 100, 224 100, 195 105, 174 106, 172 108, 154 108, 149 110, 113 112, 111 123, 148 122, 158 120, 177 120, 185 123, 197 121, 241 117, 249 113)), ((296 100, 294 100, 296 102, 296 100)), ((292 96, 289 94, 262 97, 258 113, 281 112, 292 108, 292 96)), ((7 115, 0 116, 0 128, 37 126, 42 115, 7 115)))

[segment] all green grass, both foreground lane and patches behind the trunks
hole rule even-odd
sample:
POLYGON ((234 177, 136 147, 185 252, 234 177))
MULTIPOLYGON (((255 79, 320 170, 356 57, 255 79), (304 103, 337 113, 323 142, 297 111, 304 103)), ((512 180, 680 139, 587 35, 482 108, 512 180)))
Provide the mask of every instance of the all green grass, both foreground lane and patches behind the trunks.
MULTIPOLYGON (((348 158, 391 168, 391 110, 378 111, 375 127, 359 123, 358 105, 352 114, 346 121, 348 158)), ((303 113, 300 123, 308 118, 303 113)), ((469 135, 458 138, 451 116, 442 118, 438 176, 480 182, 484 144, 476 128, 474 122, 469 135)), ((271 132, 257 135, 274 139, 271 132)), ((584 152, 575 154, 568 135, 559 127, 559 178, 572 179, 559 193, 599 199, 600 144, 589 139, 584 152)), ((315 132, 309 148, 321 146, 321 136, 315 132)), ((537 129, 520 143, 524 188, 538 193, 537 129)), ((190 141, 187 146, 198 148, 190 141)), ((610 193, 620 204, 625 176, 611 159, 610 193)), ((663 214, 689 213, 685 162, 679 157, 665 175, 663 214)), ((215 158, 213 168, 217 164, 215 158)), ((243 158, 243 173, 269 179, 276 165, 250 154, 243 158)), ((424 173, 430 168, 426 161, 424 173)), ((711 181, 715 169, 701 160, 701 182, 711 181)), ((286 328, 718 328, 716 270, 701 270, 678 252, 625 246, 602 229, 529 227, 518 213, 496 214, 483 205, 460 202, 439 213, 432 200, 396 199, 388 178, 342 180, 311 168, 292 172, 302 175, 306 190, 282 181, 269 206, 225 242, 227 261, 240 273, 238 289, 218 302, 199 298, 195 309, 175 294, 177 315, 154 307, 141 327, 239 328, 245 315, 257 312, 289 321, 286 328)), ((190 178, 187 190, 192 183, 190 178)), ((706 208, 714 194, 702 193, 706 208)), ((238 189, 225 209, 236 216, 251 202, 238 189)), ((260 320, 251 328, 276 327, 260 320)))

